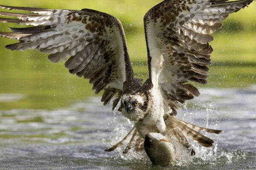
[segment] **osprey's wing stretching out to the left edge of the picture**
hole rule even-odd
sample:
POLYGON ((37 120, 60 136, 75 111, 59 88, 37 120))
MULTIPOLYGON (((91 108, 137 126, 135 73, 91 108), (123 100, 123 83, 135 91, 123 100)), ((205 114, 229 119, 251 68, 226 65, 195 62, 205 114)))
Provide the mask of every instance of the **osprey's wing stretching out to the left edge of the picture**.
MULTIPOLYGON (((102 96, 104 105, 115 94, 121 94, 125 79, 133 78, 124 30, 117 18, 90 9, 0 7, 30 12, 0 11, 2 23, 32 26, 0 32, 1 37, 19 40, 6 48, 38 49, 49 54, 51 62, 66 61, 65 66, 71 74, 90 79, 96 94, 105 91, 102 96)), ((119 97, 113 102, 113 108, 118 101, 119 97)))

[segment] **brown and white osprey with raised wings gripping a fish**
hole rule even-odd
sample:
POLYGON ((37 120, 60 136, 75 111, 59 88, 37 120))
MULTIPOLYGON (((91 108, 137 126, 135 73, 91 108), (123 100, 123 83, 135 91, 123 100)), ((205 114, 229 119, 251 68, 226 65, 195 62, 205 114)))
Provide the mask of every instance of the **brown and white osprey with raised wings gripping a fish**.
MULTIPOLYGON (((19 42, 7 45, 11 50, 37 49, 49 54, 51 62, 65 61, 71 74, 90 79, 93 90, 103 91, 103 105, 113 96, 113 109, 134 121, 125 136, 131 140, 124 152, 134 144, 140 149, 145 135, 151 132, 166 135, 177 129, 180 142, 190 147, 185 136, 210 147, 213 141, 200 131, 220 133, 177 119, 178 102, 199 96, 189 82, 207 83, 207 65, 211 63, 213 40, 210 35, 221 28, 221 21, 239 11, 252 0, 164 0, 144 17, 148 54, 148 79, 142 84, 134 77, 124 29, 110 14, 92 9, 59 10, 0 6, 0 22, 29 25, 10 28, 0 36, 19 42), (4 17, 7 18, 4 18, 4 17)), ((107 149, 111 151, 122 141, 107 149)), ((193 153, 193 150, 192 150, 193 153)))

